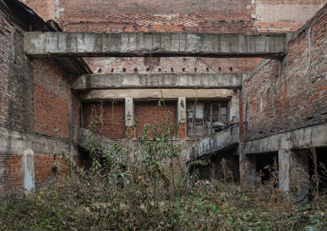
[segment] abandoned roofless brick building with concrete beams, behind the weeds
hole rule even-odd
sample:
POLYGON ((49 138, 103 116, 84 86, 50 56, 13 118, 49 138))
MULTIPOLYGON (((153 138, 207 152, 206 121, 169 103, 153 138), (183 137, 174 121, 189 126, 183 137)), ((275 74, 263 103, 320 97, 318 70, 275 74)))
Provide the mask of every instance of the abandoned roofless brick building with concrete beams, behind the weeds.
POLYGON ((0 202, 46 186, 54 161, 68 173, 59 145, 86 164, 99 100, 97 139, 130 131, 132 147, 165 117, 161 91, 184 160, 214 154, 254 183, 276 157, 288 190, 310 145, 327 162, 326 20, 324 0, 0 0, 0 202))

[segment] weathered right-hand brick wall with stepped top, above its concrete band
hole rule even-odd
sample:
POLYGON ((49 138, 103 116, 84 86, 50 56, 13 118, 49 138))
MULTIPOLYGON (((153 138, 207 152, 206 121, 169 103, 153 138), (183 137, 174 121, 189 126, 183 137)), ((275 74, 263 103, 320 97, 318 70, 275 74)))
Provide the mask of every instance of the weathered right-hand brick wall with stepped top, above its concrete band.
POLYGON ((287 61, 270 60, 243 82, 241 141, 327 122, 326 19, 327 6, 288 43, 287 61))

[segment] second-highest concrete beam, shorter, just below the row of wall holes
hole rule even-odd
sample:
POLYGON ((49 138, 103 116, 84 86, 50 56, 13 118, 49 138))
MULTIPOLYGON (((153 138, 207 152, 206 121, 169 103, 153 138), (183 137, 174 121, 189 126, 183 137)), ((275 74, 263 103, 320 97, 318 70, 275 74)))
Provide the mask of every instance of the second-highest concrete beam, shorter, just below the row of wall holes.
POLYGON ((135 88, 226 88, 241 89, 242 75, 210 74, 86 74, 70 76, 73 90, 135 88))

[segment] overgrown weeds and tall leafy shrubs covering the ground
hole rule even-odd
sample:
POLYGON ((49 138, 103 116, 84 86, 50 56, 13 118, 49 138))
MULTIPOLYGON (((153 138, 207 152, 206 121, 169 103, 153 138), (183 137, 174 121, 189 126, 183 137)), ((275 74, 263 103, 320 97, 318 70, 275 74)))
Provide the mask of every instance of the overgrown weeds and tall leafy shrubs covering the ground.
MULTIPOLYGON (((165 109, 164 104, 160 100, 158 107, 165 109)), ((9 198, 0 207, 0 230, 327 230, 319 174, 311 181, 312 204, 299 207, 279 189, 276 160, 267 166, 270 179, 263 182, 259 172, 256 186, 228 183, 233 176, 224 159, 223 181, 199 181, 192 167, 209 160, 179 163, 181 146, 173 142, 177 129, 169 111, 162 125, 143 126, 131 155, 127 139, 112 147, 94 143, 101 108, 102 103, 99 115, 93 108, 87 133, 92 167, 77 167, 62 150, 74 177, 59 175, 35 195, 9 198)), ((297 167, 292 174, 305 179, 297 167)), ((60 166, 56 169, 60 172, 60 166)), ((299 190, 296 183, 291 187, 299 190)))

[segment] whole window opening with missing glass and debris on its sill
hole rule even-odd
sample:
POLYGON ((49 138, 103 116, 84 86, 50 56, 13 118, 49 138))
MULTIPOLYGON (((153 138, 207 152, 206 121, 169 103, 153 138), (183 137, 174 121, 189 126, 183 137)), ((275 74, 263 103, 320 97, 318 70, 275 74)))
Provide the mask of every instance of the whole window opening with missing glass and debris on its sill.
POLYGON ((187 136, 205 136, 228 127, 228 101, 187 102, 187 136))

